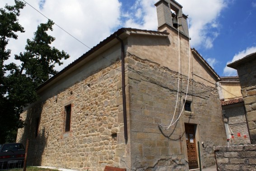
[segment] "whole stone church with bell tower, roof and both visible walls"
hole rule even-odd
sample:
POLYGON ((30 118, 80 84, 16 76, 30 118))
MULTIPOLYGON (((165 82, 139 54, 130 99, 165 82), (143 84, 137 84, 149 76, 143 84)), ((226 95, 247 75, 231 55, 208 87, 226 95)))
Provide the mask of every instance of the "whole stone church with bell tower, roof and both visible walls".
POLYGON ((17 142, 28 165, 175 171, 215 164, 227 144, 218 74, 189 45, 175 0, 155 4, 158 31, 121 28, 37 89, 17 142))

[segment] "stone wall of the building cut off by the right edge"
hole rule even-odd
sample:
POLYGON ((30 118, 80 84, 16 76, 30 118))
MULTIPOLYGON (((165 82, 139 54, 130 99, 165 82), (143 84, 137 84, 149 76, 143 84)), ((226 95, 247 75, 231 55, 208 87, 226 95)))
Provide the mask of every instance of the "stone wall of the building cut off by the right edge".
MULTIPOLYGON (((252 57, 253 58, 253 57, 252 57)), ((255 58, 255 57, 254 57, 255 58)), ((237 68, 247 112, 252 144, 256 144, 256 60, 237 68)))

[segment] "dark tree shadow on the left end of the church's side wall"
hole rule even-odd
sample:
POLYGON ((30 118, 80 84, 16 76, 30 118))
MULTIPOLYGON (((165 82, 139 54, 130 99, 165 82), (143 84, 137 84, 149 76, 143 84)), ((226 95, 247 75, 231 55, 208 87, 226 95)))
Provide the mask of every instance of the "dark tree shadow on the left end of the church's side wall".
POLYGON ((42 107, 43 103, 34 104, 31 108, 28 108, 23 135, 20 139, 25 146, 27 139, 29 139, 28 166, 41 166, 42 154, 47 146, 47 132, 45 127, 41 130, 39 129, 42 107))

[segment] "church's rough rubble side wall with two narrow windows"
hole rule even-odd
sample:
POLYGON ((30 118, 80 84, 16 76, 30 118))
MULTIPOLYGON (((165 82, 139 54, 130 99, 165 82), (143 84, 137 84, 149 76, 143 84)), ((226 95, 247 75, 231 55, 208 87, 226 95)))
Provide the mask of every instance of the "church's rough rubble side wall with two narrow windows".
POLYGON ((81 171, 124 167, 122 161, 129 161, 130 154, 123 138, 121 86, 118 61, 27 108, 22 115, 26 126, 19 130, 17 141, 26 144, 30 139, 28 165, 81 171), (71 126, 65 132, 69 104, 71 126), (40 125, 35 137, 37 117, 40 125))

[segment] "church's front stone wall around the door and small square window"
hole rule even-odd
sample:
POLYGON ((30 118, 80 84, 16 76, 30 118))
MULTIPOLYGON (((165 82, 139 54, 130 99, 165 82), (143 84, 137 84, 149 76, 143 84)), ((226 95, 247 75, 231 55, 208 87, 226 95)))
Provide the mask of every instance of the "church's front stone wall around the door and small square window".
MULTIPOLYGON (((200 141, 202 166, 215 164, 213 146, 226 144, 219 95, 216 87, 189 81, 187 99, 192 112, 182 112, 186 96, 187 77, 181 75, 178 114, 181 117, 169 130, 158 123, 169 125, 176 106, 178 73, 129 54, 130 139, 132 170, 186 170, 188 157, 185 123, 196 126, 196 142, 200 141), (204 146, 201 145, 204 142, 204 146)), ((196 147, 197 148, 197 147, 196 147)))

